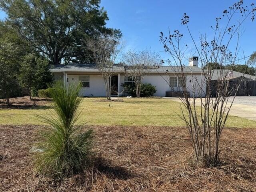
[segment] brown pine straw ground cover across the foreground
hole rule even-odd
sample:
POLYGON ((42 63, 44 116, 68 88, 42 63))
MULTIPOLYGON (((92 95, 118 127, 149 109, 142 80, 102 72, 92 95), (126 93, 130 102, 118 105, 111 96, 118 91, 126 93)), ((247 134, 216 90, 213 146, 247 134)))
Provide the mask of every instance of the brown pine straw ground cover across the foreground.
POLYGON ((227 128, 222 164, 191 164, 186 128, 91 126, 94 159, 83 173, 56 181, 33 170, 38 126, 0 126, 0 191, 256 191, 256 130, 227 128))

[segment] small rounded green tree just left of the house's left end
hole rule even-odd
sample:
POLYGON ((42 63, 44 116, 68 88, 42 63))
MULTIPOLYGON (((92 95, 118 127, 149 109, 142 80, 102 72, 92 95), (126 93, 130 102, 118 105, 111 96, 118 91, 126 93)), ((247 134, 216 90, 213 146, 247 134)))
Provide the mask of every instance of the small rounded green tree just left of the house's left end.
POLYGON ((39 89, 45 88, 46 83, 51 81, 48 61, 36 54, 24 56, 20 66, 18 80, 22 87, 28 88, 31 99, 32 90, 37 92, 39 89))

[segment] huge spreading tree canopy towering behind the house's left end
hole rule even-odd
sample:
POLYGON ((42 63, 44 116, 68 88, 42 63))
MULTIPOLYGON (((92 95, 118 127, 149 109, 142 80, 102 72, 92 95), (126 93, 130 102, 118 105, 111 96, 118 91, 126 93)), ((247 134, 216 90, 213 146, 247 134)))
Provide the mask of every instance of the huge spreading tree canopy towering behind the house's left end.
POLYGON ((99 34, 120 37, 106 28, 100 0, 0 0, 6 21, 53 64, 90 62, 86 39, 99 34))

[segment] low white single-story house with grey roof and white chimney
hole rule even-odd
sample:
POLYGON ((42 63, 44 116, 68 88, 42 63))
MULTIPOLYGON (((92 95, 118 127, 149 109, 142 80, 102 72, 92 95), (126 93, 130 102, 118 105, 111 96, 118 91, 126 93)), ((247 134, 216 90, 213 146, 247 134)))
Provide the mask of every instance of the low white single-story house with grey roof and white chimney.
MULTIPOLYGON (((179 67, 174 66, 151 66, 150 71, 144 76, 142 83, 150 83, 156 87, 154 96, 178 96, 182 93, 181 80, 176 76, 179 67)), ((115 64, 113 71, 115 75, 111 78, 112 95, 122 92, 121 84, 133 82, 131 76, 127 76, 128 67, 115 64)), ((73 81, 82 82, 83 96, 105 97, 105 85, 102 74, 98 70, 96 64, 70 64, 70 65, 54 65, 50 69, 54 75, 54 81, 64 81, 65 84, 73 81)), ((202 69, 198 68, 198 57, 193 57, 189 66, 183 67, 186 76, 186 88, 190 92, 190 96, 205 96, 206 86, 204 85, 204 75, 202 69), (201 82, 202 87, 192 91, 194 79, 201 82)))

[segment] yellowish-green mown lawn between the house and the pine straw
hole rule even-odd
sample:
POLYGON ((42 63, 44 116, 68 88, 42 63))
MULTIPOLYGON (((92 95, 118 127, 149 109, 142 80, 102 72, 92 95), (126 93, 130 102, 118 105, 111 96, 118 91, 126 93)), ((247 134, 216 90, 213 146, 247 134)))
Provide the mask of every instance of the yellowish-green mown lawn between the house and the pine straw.
MULTIPOLYGON (((84 98, 81 123, 90 125, 185 126, 180 103, 162 98, 122 98, 123 102, 101 102, 84 98), (110 106, 109 106, 110 105, 110 106)), ((44 115, 49 105, 32 109, 0 109, 0 124, 42 124, 35 115, 44 115)), ((256 121, 230 116, 228 127, 256 128, 256 121)))

